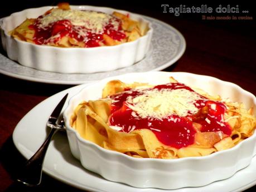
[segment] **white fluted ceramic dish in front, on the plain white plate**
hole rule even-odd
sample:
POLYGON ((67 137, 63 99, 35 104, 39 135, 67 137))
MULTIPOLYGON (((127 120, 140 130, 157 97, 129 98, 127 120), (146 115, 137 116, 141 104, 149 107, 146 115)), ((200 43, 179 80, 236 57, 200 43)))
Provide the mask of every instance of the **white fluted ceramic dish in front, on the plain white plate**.
POLYGON ((254 110, 256 108, 256 98, 252 93, 233 83, 221 81, 214 77, 182 72, 145 72, 106 78, 85 87, 69 101, 69 106, 64 112, 71 152, 86 169, 102 175, 105 179, 138 188, 177 189, 204 186, 214 181, 229 178, 236 171, 250 164, 256 151, 254 149, 256 133, 231 149, 203 157, 186 157, 173 160, 137 159, 120 152, 106 150, 86 141, 69 125, 75 107, 82 101, 101 98, 102 90, 110 80, 121 80, 125 83, 148 82, 152 85, 161 85, 169 82, 170 76, 188 86, 199 87, 210 95, 220 95, 231 101, 243 102, 248 109, 252 106, 254 110))

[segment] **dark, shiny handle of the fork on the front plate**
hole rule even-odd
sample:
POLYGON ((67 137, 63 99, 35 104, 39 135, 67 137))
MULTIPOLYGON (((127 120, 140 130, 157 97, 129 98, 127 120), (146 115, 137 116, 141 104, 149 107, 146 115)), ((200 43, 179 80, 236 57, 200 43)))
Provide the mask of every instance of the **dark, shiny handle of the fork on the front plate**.
POLYGON ((27 160, 25 166, 21 168, 20 174, 17 176, 17 181, 22 182, 28 186, 36 186, 41 183, 42 178, 42 165, 44 163, 45 154, 50 144, 52 136, 59 129, 51 129, 50 134, 47 136, 45 142, 40 146, 36 153, 27 160))

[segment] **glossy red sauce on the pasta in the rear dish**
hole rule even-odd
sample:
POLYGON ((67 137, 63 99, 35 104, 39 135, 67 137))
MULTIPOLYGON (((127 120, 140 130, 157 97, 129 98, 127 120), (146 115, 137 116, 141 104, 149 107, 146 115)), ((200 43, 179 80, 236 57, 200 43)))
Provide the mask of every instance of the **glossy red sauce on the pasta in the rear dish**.
POLYGON ((109 23, 104 26, 103 33, 91 32, 90 29, 86 29, 84 26, 74 26, 67 19, 51 23, 49 24, 49 26, 41 28, 40 18, 42 17, 43 16, 38 17, 36 19, 36 22, 29 26, 35 31, 33 40, 37 45, 47 45, 48 43, 50 43, 50 41, 56 44, 58 41, 61 40, 62 37, 67 36, 67 37, 74 38, 79 42, 81 41, 84 42, 85 47, 98 47, 100 46, 100 42, 105 44, 103 40, 103 34, 107 34, 109 37, 117 41, 121 41, 126 37, 125 33, 122 30, 122 21, 114 17, 112 19, 115 21, 118 21, 119 23, 118 30, 114 29, 113 24, 111 24, 112 19, 110 19, 109 23), (78 33, 79 28, 83 29, 83 31, 86 31, 85 36, 79 35, 78 33), (53 37, 53 38, 50 38, 50 37, 53 37))

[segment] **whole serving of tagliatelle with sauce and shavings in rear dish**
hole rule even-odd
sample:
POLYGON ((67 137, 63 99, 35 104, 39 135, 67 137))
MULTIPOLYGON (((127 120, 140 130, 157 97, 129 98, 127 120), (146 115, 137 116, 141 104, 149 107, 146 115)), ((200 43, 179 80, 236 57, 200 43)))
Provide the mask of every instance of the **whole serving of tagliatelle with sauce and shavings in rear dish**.
POLYGON ((131 42, 147 31, 147 24, 129 14, 71 9, 69 3, 59 3, 38 18, 27 18, 9 35, 37 45, 98 47, 131 42))

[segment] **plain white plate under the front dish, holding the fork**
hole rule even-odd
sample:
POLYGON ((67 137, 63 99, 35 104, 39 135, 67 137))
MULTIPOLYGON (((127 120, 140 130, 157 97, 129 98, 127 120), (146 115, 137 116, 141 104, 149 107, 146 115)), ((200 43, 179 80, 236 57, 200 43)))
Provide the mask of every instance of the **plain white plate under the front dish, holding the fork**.
MULTIPOLYGON (((57 93, 42 101, 34 107, 16 126, 13 132, 13 141, 17 149, 27 159, 40 147, 47 133, 46 121, 54 107, 69 92, 69 98, 79 92, 86 85, 79 85, 57 93)), ((168 190, 152 188, 133 188, 125 184, 115 183, 103 179, 101 176, 91 173, 81 166, 70 152, 65 132, 58 132, 51 141, 44 163, 44 171, 53 178, 76 188, 89 191, 147 191, 161 192, 168 190)), ((210 175, 209 175, 210 176, 210 175)), ((231 178, 216 181, 200 188, 181 188, 170 190, 172 192, 196 192, 196 191, 243 191, 256 184, 256 157, 245 169, 235 173, 231 178)))

